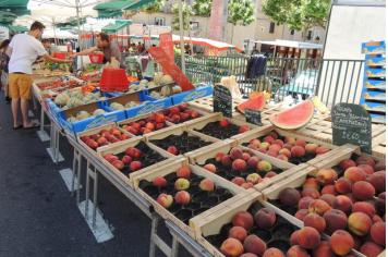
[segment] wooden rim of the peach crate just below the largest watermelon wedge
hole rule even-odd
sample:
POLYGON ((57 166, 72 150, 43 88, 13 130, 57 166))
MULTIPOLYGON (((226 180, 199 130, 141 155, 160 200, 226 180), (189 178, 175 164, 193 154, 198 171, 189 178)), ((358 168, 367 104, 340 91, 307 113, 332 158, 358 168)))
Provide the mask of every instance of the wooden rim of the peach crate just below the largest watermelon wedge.
POLYGON ((300 139, 305 140, 306 143, 315 143, 315 144, 318 144, 319 146, 325 146, 328 149, 330 149, 330 151, 326 152, 325 155, 317 156, 314 159, 307 161, 306 163, 310 164, 310 166, 313 166, 314 163, 317 163, 317 162, 319 162, 322 160, 325 160, 326 158, 330 157, 331 155, 334 155, 332 150, 338 148, 338 146, 330 145, 330 144, 325 143, 325 142, 319 142, 319 140, 316 140, 316 139, 313 139, 313 138, 310 138, 310 137, 305 137, 305 136, 302 136, 302 135, 295 135, 295 134, 293 134, 291 132, 282 131, 280 128, 277 128, 277 127, 272 126, 272 125, 266 125, 266 126, 263 126, 262 130, 248 131, 248 132, 245 132, 243 134, 235 135, 235 136, 231 137, 231 139, 234 139, 237 145, 242 145, 244 143, 250 143, 254 138, 258 138, 258 137, 265 136, 271 131, 276 131, 279 135, 284 136, 284 137, 291 136, 291 137, 294 137, 296 139, 300 138, 300 139))

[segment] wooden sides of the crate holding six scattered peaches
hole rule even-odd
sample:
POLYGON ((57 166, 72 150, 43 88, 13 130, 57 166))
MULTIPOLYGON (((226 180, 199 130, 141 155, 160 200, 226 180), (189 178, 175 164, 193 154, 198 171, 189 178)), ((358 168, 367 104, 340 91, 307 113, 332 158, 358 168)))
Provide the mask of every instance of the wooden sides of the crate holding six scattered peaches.
MULTIPOLYGON (((229 182, 229 181, 227 181, 227 180, 225 180, 225 179, 222 179, 222 178, 220 178, 220 176, 218 176, 218 175, 216 175, 201 167, 192 166, 192 164, 189 164, 187 162, 184 163, 184 162, 179 162, 179 161, 172 161, 172 162, 170 161, 166 166, 159 167, 157 169, 148 170, 147 172, 143 172, 142 174, 134 176, 133 182, 134 182, 135 191, 154 206, 155 211, 157 211, 163 219, 171 220, 179 228, 181 228, 186 234, 189 234, 190 236, 195 238, 194 230, 192 228, 190 228, 189 225, 183 223, 173 213, 171 213, 166 208, 160 206, 157 203, 157 200, 155 200, 153 197, 150 197, 142 188, 138 187, 138 184, 142 180, 147 180, 147 181, 151 182, 155 178, 165 176, 167 174, 173 173, 181 167, 189 167, 191 172, 211 180, 215 183, 215 185, 219 185, 219 186, 222 186, 223 188, 229 189, 235 196, 238 196, 240 193, 244 193, 245 189, 243 189, 242 187, 240 187, 240 186, 238 186, 238 185, 235 185, 235 184, 233 184, 233 183, 231 183, 231 182, 229 182)), ((234 197, 232 197, 232 198, 234 198, 234 197)), ((219 205, 221 205, 221 204, 219 204, 219 205)), ((216 208, 217 206, 215 206, 214 208, 216 208)), ((211 209, 213 208, 208 209, 207 213, 211 213, 211 209)))

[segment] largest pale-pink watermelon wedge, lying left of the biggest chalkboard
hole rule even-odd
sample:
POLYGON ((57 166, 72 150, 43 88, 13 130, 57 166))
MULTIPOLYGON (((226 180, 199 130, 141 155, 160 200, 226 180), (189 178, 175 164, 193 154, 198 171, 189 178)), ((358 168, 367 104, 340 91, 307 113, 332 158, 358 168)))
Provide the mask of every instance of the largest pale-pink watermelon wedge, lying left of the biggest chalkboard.
POLYGON ((298 130, 306 125, 314 114, 314 103, 306 100, 290 110, 280 112, 269 121, 279 128, 298 130))

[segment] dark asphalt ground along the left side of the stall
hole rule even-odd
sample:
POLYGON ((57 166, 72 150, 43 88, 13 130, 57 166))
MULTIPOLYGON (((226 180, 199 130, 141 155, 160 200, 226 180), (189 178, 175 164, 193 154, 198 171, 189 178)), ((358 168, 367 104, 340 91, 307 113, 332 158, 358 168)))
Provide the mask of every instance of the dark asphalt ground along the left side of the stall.
MULTIPOLYGON (((12 130, 11 106, 3 102, 3 91, 0 99, 0 256, 148 256, 150 219, 102 175, 98 208, 114 237, 97 243, 59 173, 72 169, 71 145, 61 137, 64 161, 53 163, 46 150, 50 143, 43 143, 37 130, 12 130)), ((39 120, 39 111, 33 114, 39 120)), ((84 188, 83 180, 82 200, 84 188)), ((170 245, 161 223, 159 235, 170 245)), ((157 256, 165 255, 157 249, 157 256)), ((179 256, 189 256, 182 246, 179 256)))

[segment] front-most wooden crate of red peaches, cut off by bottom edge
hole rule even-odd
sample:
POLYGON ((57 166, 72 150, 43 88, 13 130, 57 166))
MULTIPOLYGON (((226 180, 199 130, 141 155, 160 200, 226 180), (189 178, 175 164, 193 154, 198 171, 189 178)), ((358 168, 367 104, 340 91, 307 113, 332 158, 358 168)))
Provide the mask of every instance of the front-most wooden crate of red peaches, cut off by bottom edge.
POLYGON ((196 241, 214 256, 336 256, 329 252, 330 238, 303 228, 299 220, 263 200, 258 192, 229 199, 223 206, 206 219, 190 221, 196 241))

